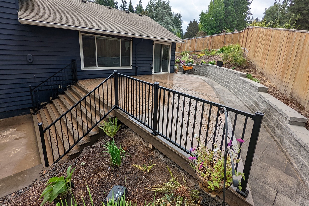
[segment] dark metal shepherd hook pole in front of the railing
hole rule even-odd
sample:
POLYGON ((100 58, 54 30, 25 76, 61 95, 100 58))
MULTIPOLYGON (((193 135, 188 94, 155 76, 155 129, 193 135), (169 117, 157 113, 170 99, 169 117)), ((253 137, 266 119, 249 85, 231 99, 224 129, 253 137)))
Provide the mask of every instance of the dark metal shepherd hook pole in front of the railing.
POLYGON ((227 147, 227 113, 225 107, 220 107, 220 112, 225 115, 225 144, 224 144, 224 178, 223 178, 223 197, 222 197, 222 206, 225 206, 225 179, 226 179, 226 160, 227 154, 230 155, 231 166, 232 166, 232 177, 233 177, 233 186, 238 187, 238 178, 235 175, 235 166, 232 156, 232 151, 227 147))

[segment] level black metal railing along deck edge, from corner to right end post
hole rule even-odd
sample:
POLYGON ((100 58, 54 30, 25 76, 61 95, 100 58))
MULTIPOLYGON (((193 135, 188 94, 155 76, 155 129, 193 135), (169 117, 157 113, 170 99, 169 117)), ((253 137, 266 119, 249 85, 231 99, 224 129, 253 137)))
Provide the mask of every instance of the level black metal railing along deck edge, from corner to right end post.
MULTIPOLYGON (((242 191, 239 191, 243 196, 248 195, 246 188, 263 118, 262 113, 251 114, 192 96, 190 93, 184 94, 159 86, 158 82, 152 84, 122 74, 118 75, 118 108, 150 128, 153 135, 164 137, 184 152, 190 154, 190 148, 199 146, 197 138, 194 138, 195 134, 208 149, 213 151, 219 148, 222 153, 225 152, 225 145, 230 140, 233 142, 237 138, 249 141, 242 171, 245 173, 245 180, 242 179, 242 191), (226 113, 231 116, 228 126, 231 136, 227 142, 224 140, 225 120, 220 116, 222 107, 225 107, 226 113), (247 125, 250 125, 250 128, 247 128, 247 125)), ((242 144, 240 141, 240 146, 242 144)), ((238 164, 235 169, 239 169, 238 164)))

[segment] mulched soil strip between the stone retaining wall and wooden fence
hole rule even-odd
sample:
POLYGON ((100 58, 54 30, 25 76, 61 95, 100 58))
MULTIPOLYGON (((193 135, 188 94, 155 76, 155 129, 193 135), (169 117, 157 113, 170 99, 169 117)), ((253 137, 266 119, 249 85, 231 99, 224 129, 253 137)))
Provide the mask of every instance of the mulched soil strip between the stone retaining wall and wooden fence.
MULTIPOLYGON (((244 57, 248 59, 248 57, 244 54, 244 57)), ((176 56, 176 59, 181 58, 180 55, 176 56)), ((189 58, 194 59, 194 63, 201 64, 201 60, 204 60, 206 63, 209 61, 222 61, 221 54, 215 54, 213 56, 209 55, 204 55, 200 58, 197 58, 197 55, 189 55, 189 58)), ((216 64, 216 63, 215 63, 216 64)), ((226 67, 228 69, 231 69, 233 65, 230 63, 223 64, 223 67, 226 67)), ((286 97, 286 95, 283 95, 268 79, 265 78, 265 76, 260 73, 257 69, 256 66, 248 59, 248 66, 246 68, 243 68, 241 66, 236 67, 234 70, 247 73, 247 74, 252 74, 253 78, 257 78, 260 80, 260 84, 267 86, 268 87, 268 93, 275 97, 276 99, 279 99, 281 102, 285 103, 304 117, 306 117, 308 120, 305 124, 305 128, 309 130, 309 111, 306 111, 303 106, 301 106, 299 103, 294 102, 293 100, 289 99, 286 97)))

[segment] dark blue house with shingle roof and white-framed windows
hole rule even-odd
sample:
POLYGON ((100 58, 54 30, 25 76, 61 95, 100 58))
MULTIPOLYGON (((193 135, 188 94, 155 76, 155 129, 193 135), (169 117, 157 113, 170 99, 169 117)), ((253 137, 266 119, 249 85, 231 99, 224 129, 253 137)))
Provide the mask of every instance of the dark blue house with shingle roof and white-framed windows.
POLYGON ((72 59, 78 79, 174 72, 176 42, 148 16, 87 1, 0 0, 0 118, 29 113, 29 85, 72 59))

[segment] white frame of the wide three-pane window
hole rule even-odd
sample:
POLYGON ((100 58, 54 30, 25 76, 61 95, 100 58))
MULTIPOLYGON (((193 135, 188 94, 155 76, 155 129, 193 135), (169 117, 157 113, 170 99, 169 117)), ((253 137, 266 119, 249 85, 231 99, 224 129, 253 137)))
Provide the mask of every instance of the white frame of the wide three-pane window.
MULTIPOLYGON (((97 45, 96 37, 107 37, 102 35, 85 34, 79 31, 79 48, 80 48, 80 59, 82 63, 82 71, 85 70, 111 70, 111 69, 132 69, 132 38, 130 40, 130 66, 109 66, 109 67, 98 67, 98 57, 97 57, 97 45), (95 61, 96 67, 85 67, 84 65, 84 53, 83 53, 83 39, 82 35, 95 36, 95 61)), ((121 39, 121 38, 119 38, 121 39)), ((120 65, 121 65, 121 41, 120 41, 120 65)))

